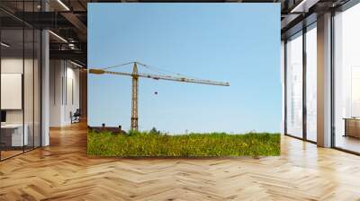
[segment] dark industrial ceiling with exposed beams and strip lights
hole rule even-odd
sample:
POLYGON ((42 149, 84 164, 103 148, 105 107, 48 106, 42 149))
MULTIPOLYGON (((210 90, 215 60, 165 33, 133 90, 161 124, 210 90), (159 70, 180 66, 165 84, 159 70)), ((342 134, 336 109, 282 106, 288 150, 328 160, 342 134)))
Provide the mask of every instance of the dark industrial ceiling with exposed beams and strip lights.
POLYGON ((86 66, 87 3, 132 2, 203 2, 203 3, 280 3, 282 38, 302 29, 303 19, 311 23, 316 15, 345 4, 348 0, 35 0, 0 2, 0 18, 4 29, 23 24, 36 29, 49 29, 50 57, 72 59, 86 66), (24 3, 23 3, 24 2, 24 3), (44 11, 47 12, 44 12, 44 11), (23 12, 25 11, 25 12, 23 12), (59 37, 60 38, 59 38, 59 37), (65 40, 64 40, 65 39, 65 40))

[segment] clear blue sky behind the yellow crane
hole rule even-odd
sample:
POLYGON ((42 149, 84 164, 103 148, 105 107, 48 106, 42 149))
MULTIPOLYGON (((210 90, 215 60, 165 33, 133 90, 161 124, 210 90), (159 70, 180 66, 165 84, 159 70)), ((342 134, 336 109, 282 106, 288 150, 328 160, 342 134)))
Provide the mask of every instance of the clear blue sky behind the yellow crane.
MULTIPOLYGON (((280 4, 89 4, 88 66, 139 61, 229 87, 139 79, 139 129, 279 132, 280 4), (155 94, 157 92, 157 95, 155 94)), ((130 66, 116 71, 130 72, 130 66)), ((149 72, 139 67, 139 72, 149 72)), ((130 128, 131 78, 88 77, 90 126, 130 128)))

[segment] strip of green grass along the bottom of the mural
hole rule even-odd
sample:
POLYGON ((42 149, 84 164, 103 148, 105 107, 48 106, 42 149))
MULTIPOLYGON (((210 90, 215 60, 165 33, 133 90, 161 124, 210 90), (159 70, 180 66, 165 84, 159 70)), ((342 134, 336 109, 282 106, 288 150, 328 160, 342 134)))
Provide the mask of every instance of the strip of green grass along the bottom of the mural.
POLYGON ((280 135, 226 133, 166 135, 154 132, 87 134, 87 154, 94 156, 274 156, 280 155, 280 135))

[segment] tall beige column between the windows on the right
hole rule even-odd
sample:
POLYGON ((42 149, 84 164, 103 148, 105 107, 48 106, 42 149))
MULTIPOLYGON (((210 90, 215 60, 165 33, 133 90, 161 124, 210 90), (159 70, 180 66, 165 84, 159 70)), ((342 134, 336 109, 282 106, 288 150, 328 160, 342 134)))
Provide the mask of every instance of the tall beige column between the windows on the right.
POLYGON ((331 146, 331 13, 318 17, 318 145, 331 146))

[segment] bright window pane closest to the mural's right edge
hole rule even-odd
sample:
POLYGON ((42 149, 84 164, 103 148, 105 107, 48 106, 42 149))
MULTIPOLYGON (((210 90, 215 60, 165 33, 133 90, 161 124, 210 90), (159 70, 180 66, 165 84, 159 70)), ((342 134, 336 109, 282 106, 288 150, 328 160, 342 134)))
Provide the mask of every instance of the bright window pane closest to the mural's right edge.
POLYGON ((302 32, 286 42, 286 131, 302 137, 302 32))

